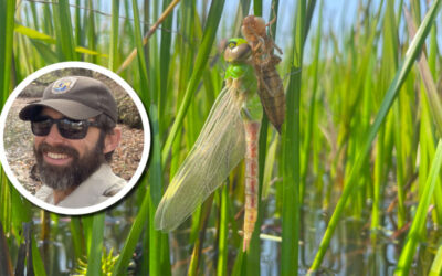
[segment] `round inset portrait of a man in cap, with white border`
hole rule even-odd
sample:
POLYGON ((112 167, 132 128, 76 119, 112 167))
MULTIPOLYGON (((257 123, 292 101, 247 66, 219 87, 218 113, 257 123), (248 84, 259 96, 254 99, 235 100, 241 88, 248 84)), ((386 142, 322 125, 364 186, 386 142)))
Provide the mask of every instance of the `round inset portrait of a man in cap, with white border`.
POLYGON ((101 211, 140 178, 150 149, 147 113, 118 75, 56 63, 21 82, 0 116, 0 160, 15 189, 60 214, 101 211))

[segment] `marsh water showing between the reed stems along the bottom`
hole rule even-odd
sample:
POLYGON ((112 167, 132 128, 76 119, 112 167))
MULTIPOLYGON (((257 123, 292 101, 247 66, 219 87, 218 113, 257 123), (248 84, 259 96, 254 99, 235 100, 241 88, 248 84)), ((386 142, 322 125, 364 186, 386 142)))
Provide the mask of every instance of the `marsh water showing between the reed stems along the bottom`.
MULTIPOLYGON (((307 204, 303 205, 301 213, 303 223, 299 242, 299 275, 306 274, 312 264, 316 248, 319 246, 320 238, 332 215, 332 208, 324 209, 317 204, 318 201, 313 199, 306 200, 307 204)), ((135 199, 126 198, 125 201, 106 211, 104 246, 107 253, 113 248, 113 255, 116 255, 124 245, 125 237, 128 235, 133 224, 133 219, 137 214, 137 209, 133 208, 135 205, 131 202, 133 200, 135 199)), ((281 242, 274 240, 281 236, 281 220, 275 215, 271 215, 274 214, 275 204, 274 198, 270 198, 265 204, 262 233, 276 238, 264 237, 261 240, 261 275, 278 275, 280 273, 281 242)), ((41 211, 36 208, 34 210, 33 235, 39 237, 42 234, 41 211)), ((213 212, 215 211, 212 210, 213 212)), ((385 215, 383 220, 386 222, 385 225, 389 226, 375 233, 370 231, 368 217, 355 219, 347 216, 343 219, 334 234, 319 275, 392 275, 398 261, 398 253, 401 251, 397 244, 400 238, 404 237, 407 231, 402 234, 396 233, 392 231, 393 222, 390 221, 391 217, 385 215), (371 241, 375 234, 377 244, 373 246, 371 241)), ((52 217, 49 238, 39 242, 48 275, 72 275, 77 269, 70 221, 70 216, 52 217)), ((193 247, 192 244, 188 243, 189 233, 188 229, 180 227, 169 234, 170 258, 173 264, 172 275, 187 274, 193 247)), ((442 236, 441 230, 431 231, 428 235, 428 241, 420 244, 417 261, 412 266, 413 275, 427 275, 425 272, 431 265, 440 236, 442 236)), ((214 238, 215 231, 208 229, 202 250, 203 256, 201 259, 203 264, 200 265, 200 269, 203 272, 202 275, 215 274, 218 256, 214 250, 217 247, 214 238)), ((139 245, 144 240, 139 240, 139 245)), ((12 256, 17 256, 17 247, 10 248, 10 251, 12 256)), ((129 267, 129 275, 144 275, 141 273, 144 270, 143 267, 138 266, 139 259, 147 257, 141 251, 136 250, 129 267)), ((238 248, 230 246, 230 269, 236 255, 238 248)))

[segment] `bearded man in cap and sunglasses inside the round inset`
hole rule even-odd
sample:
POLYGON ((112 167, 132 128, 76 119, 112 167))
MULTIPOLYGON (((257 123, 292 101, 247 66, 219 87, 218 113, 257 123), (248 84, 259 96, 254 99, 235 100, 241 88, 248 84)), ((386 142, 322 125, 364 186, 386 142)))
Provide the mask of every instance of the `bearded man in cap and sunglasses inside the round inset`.
POLYGON ((43 185, 35 197, 63 208, 95 205, 126 183, 110 169, 122 130, 106 85, 84 76, 50 84, 40 100, 19 114, 31 121, 34 156, 43 185))

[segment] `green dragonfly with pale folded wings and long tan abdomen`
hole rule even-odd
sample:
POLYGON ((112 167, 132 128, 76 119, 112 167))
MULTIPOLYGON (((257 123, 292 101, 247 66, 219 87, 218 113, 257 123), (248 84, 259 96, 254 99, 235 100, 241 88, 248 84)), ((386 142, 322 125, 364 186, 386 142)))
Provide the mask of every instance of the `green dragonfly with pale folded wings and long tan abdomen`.
POLYGON ((245 158, 243 251, 249 248, 257 216, 257 137, 262 116, 262 107, 256 108, 255 104, 259 98, 254 96, 256 76, 250 65, 251 54, 244 39, 229 40, 224 50, 229 63, 224 88, 158 205, 158 230, 177 229, 245 158))

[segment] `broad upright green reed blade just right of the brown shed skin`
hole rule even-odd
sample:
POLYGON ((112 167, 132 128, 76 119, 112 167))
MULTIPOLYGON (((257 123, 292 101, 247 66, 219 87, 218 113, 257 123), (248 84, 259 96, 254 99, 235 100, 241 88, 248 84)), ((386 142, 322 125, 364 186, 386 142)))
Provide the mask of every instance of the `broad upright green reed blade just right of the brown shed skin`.
POLYGON ((299 238, 299 105, 301 105, 301 68, 303 66, 303 52, 306 29, 307 1, 297 2, 294 17, 295 44, 290 60, 293 61, 286 91, 286 114, 282 131, 283 149, 283 210, 282 210, 282 253, 281 274, 297 275, 298 272, 298 238, 299 238))

